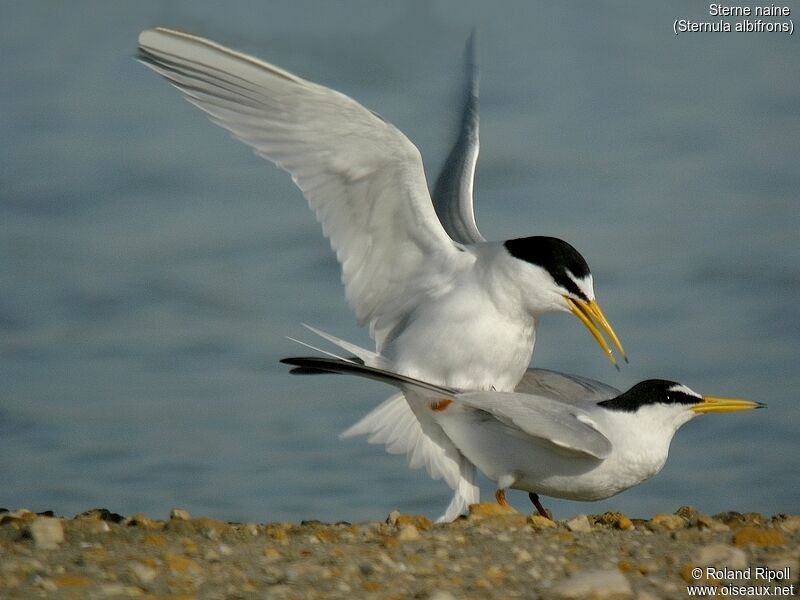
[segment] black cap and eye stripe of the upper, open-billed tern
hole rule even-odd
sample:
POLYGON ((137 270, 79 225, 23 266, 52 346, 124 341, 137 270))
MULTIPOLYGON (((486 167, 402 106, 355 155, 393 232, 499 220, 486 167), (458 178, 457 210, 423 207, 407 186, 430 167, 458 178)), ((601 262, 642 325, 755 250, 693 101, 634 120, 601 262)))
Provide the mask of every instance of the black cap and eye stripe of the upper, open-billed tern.
POLYGON ((514 258, 542 267, 558 285, 578 298, 589 301, 575 283, 575 279, 585 279, 591 274, 589 265, 581 253, 564 240, 533 236, 506 240, 503 245, 514 258))

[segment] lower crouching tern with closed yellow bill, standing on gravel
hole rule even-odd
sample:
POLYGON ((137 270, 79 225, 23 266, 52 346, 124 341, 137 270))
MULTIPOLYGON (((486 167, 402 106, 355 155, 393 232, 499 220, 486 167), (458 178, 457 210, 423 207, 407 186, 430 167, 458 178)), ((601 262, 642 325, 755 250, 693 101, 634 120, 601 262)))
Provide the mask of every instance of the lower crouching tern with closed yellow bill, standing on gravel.
POLYGON ((648 379, 619 393, 599 382, 543 371, 543 380, 561 379, 571 391, 561 387, 555 395, 459 392, 348 360, 313 357, 281 362, 399 387, 497 484, 499 503, 506 503, 508 488, 527 491, 544 517, 549 515, 539 494, 583 501, 609 498, 658 473, 678 428, 694 417, 765 406, 701 396, 663 379, 648 379))

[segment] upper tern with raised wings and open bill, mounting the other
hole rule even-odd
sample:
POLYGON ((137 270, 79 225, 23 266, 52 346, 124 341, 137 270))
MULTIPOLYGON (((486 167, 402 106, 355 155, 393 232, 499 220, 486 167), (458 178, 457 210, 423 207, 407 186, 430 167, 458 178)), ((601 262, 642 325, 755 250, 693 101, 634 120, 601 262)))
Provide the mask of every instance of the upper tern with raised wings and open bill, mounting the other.
MULTIPOLYGON (((548 312, 575 315, 612 363, 603 333, 625 357, 575 248, 545 236, 488 242, 478 232, 476 111, 474 141, 462 147, 463 185, 437 202, 437 218, 417 148, 351 98, 171 29, 142 32, 139 60, 291 174, 341 264, 350 306, 375 340, 376 352, 361 356, 366 364, 457 389, 512 391, 548 312)), ((426 413, 412 413, 402 395, 390 402, 391 414, 368 415, 346 433, 380 429, 387 448, 444 477, 456 490, 444 518, 455 518, 477 501, 474 467, 426 413)))

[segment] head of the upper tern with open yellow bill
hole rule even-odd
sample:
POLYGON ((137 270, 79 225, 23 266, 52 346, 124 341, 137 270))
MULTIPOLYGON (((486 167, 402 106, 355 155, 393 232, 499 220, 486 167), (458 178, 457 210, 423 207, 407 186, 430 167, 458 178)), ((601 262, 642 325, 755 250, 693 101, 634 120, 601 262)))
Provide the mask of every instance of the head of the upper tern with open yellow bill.
POLYGON ((503 246, 514 259, 524 263, 523 294, 534 315, 551 311, 572 313, 614 366, 617 359, 601 330, 627 362, 617 334, 595 299, 592 273, 580 252, 564 240, 547 236, 507 240, 503 246))

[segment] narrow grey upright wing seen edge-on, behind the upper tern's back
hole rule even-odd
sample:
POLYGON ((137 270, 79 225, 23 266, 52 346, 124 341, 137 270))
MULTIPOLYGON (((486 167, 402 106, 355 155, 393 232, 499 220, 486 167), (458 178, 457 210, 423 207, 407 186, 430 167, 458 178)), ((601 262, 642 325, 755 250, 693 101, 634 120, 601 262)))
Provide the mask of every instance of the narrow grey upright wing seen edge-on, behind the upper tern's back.
POLYGON ((458 138, 433 188, 433 206, 447 234, 457 242, 485 241, 475 223, 472 186, 478 162, 478 61, 475 32, 469 36, 465 56, 464 99, 458 138))

